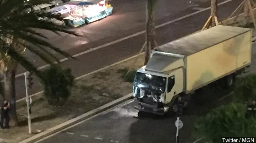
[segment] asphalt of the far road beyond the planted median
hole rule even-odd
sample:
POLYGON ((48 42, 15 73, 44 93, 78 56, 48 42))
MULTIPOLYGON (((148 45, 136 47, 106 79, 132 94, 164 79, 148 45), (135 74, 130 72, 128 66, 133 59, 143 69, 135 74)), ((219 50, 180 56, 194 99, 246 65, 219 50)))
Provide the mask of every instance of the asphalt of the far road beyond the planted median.
MULTIPOLYGON (((224 0, 221 0, 219 1, 219 3, 223 1, 224 0)), ((241 2, 242 0, 232 0, 219 6, 219 20, 226 19, 241 2)), ((162 6, 164 8, 159 8, 159 10, 157 11, 157 15, 160 16, 156 20, 156 25, 166 23, 168 21, 180 18, 182 16, 191 14, 193 12, 210 6, 210 2, 207 0, 206 3, 199 1, 193 1, 192 3, 187 3, 187 1, 183 1, 182 3, 175 3, 176 1, 162 1, 159 7, 162 6)), ((117 0, 113 0, 112 5, 115 8, 115 11, 110 17, 107 17, 89 25, 84 25, 82 27, 79 27, 78 29, 74 29, 78 32, 85 31, 83 33, 85 35, 83 38, 85 38, 86 36, 93 37, 91 39, 94 40, 88 41, 88 43, 86 44, 74 45, 74 42, 84 40, 79 39, 78 37, 75 37, 77 38, 77 41, 75 41, 74 39, 71 39, 70 41, 70 37, 67 35, 50 35, 50 40, 53 40, 52 43, 56 43, 57 46, 61 45, 58 43, 73 42, 73 48, 70 47, 71 45, 69 47, 62 47, 64 48, 63 50, 66 49, 66 51, 69 52, 71 55, 108 43, 108 45, 105 45, 101 49, 78 56, 77 61, 67 60, 62 62, 62 66, 64 68, 72 69, 72 73, 75 77, 79 77, 94 70, 103 68, 107 65, 119 62, 120 60, 129 58, 133 55, 136 55, 141 49, 145 40, 144 33, 139 33, 136 36, 129 37, 123 41, 119 41, 116 43, 109 44, 109 42, 145 30, 145 8, 143 8, 145 6, 144 1, 140 0, 127 2, 125 0, 118 0, 117 2, 117 0), (135 19, 135 21, 134 19, 132 19, 132 17, 135 19), (124 21, 124 18, 126 18, 126 21, 124 21), (121 24, 119 24, 119 22, 121 24), (117 30, 115 28, 117 28, 117 30), (91 32, 88 32, 88 30, 91 30, 91 32), (93 30, 97 31, 97 33, 95 34, 94 32, 92 32, 93 30), (101 36, 101 33, 104 36, 101 36), (97 36, 100 36, 100 38, 96 38, 97 36)), ((190 33, 200 30, 203 27, 205 21, 208 19, 209 15, 210 10, 205 10, 198 14, 194 14, 184 19, 180 19, 178 21, 164 25, 162 27, 158 27, 156 29, 156 41, 158 45, 162 45, 169 41, 173 41, 182 36, 186 36, 190 33)), ((29 60, 34 60, 34 57, 32 55, 29 55, 29 53, 27 53, 27 56, 29 60)), ((37 62, 35 62, 35 65, 39 67, 44 65, 44 63, 40 62, 40 60, 37 60, 37 62)), ((18 74, 24 71, 25 70, 23 68, 19 67, 18 74)), ((29 95, 32 95, 42 90, 38 79, 34 77, 33 80, 33 89, 29 91, 29 95)), ((21 99, 25 97, 24 76, 17 77, 15 85, 16 99, 21 99)))

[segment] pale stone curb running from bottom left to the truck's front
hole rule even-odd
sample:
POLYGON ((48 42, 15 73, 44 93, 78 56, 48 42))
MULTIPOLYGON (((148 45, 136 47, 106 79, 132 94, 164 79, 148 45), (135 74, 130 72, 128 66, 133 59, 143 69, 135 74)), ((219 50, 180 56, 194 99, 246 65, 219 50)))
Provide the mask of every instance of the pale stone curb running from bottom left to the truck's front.
POLYGON ((47 129, 44 132, 41 132, 41 133, 39 133, 37 135, 34 135, 34 136, 30 137, 30 138, 22 140, 22 141, 20 141, 18 143, 34 143, 35 141, 38 141, 38 140, 40 140, 40 139, 42 139, 44 137, 52 135, 52 134, 54 134, 54 133, 56 133, 56 132, 58 132, 58 131, 60 131, 62 129, 65 129, 67 127, 70 127, 70 126, 72 126, 72 125, 74 125, 74 124, 76 124, 78 122, 81 122, 82 120, 90 118, 90 117, 92 117, 92 116, 94 116, 94 115, 96 115, 98 113, 101 113, 101 112, 107 110, 107 109, 110 109, 110 108, 118 105, 119 103, 125 102, 125 101, 131 99, 132 97, 133 97, 133 95, 132 95, 132 93, 130 93, 130 94, 126 95, 126 96, 123 96, 123 97, 121 97, 119 99, 116 99, 116 100, 114 100, 112 102, 109 102, 109 103, 107 103, 107 104, 105 104, 105 105, 103 105, 101 107, 98 107, 98 108, 96 108, 94 110, 91 110, 91 111, 89 111, 87 113, 84 113, 84 114, 82 114, 80 116, 77 116, 76 118, 68 120, 67 122, 59 124, 59 125, 51 128, 51 129, 47 129))

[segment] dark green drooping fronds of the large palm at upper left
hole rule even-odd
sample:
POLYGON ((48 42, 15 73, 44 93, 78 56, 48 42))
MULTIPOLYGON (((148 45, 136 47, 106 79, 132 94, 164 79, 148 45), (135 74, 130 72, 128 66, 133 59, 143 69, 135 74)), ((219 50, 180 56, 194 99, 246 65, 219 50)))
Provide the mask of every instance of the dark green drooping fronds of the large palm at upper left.
MULTIPOLYGON (((34 72, 39 77, 40 72, 19 51, 27 47, 29 51, 38 55, 46 63, 54 65, 54 61, 59 62, 49 50, 53 50, 67 58, 73 58, 68 53, 46 41, 47 36, 37 32, 38 29, 50 30, 60 35, 60 32, 80 36, 75 31, 67 29, 63 25, 58 25, 51 19, 63 20, 58 15, 53 15, 45 11, 33 9, 33 5, 24 3, 23 0, 0 0, 0 54, 13 58, 25 69, 34 72), (23 47, 10 47, 6 38, 21 44, 23 47), (20 42, 20 39, 22 42, 20 42)), ((5 61, 8 62, 8 61, 5 61)))

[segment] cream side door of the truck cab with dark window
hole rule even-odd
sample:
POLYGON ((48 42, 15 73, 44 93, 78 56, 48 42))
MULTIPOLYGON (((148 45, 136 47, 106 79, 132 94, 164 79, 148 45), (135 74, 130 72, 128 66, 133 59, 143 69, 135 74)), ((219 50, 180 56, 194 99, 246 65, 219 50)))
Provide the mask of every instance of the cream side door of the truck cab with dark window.
POLYGON ((183 69, 172 71, 167 79, 167 89, 165 103, 171 102, 173 96, 183 91, 183 69))

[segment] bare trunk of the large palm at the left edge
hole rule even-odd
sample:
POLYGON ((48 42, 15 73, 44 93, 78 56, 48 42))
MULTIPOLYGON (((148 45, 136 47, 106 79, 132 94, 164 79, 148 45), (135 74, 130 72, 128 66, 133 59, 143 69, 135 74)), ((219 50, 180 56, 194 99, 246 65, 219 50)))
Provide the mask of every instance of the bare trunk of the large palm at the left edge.
POLYGON ((4 89, 5 89, 5 95, 8 99, 10 99, 10 126, 17 126, 18 125, 18 118, 16 115, 16 93, 15 93, 15 74, 16 74, 16 68, 12 70, 8 70, 5 72, 4 75, 4 89))

